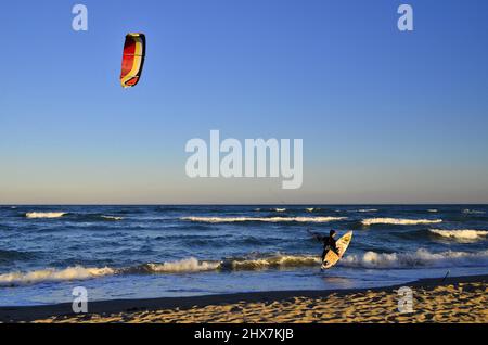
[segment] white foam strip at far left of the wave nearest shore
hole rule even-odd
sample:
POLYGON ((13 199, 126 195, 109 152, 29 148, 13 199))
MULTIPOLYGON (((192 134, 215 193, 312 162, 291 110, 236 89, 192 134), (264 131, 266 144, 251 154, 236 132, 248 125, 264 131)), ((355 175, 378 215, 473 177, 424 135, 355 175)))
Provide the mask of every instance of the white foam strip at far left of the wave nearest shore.
POLYGON ((0 286, 36 284, 41 282, 86 280, 102 276, 114 274, 115 270, 104 268, 85 268, 82 266, 68 267, 65 269, 47 268, 29 272, 11 272, 0 274, 0 286))

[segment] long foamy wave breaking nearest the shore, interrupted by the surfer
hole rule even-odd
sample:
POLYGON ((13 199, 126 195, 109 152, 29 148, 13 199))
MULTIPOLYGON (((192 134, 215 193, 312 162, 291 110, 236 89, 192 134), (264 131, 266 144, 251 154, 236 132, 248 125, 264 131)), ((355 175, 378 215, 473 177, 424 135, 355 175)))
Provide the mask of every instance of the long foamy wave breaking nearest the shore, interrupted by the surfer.
MULTIPOLYGON (((126 276, 194 273, 205 271, 254 271, 299 267, 318 268, 320 263, 321 259, 319 256, 288 254, 254 254, 246 257, 226 258, 222 260, 198 260, 195 257, 189 257, 176 261, 150 263, 127 268, 86 268, 82 266, 75 266, 65 269, 47 268, 29 272, 10 272, 0 274, 0 286, 87 280, 114 274, 126 276)), ((431 253, 424 248, 420 248, 412 253, 376 253, 370 251, 362 255, 346 254, 346 256, 338 263, 338 266, 351 268, 391 269, 479 264, 488 264, 488 250, 476 253, 451 251, 431 253)))

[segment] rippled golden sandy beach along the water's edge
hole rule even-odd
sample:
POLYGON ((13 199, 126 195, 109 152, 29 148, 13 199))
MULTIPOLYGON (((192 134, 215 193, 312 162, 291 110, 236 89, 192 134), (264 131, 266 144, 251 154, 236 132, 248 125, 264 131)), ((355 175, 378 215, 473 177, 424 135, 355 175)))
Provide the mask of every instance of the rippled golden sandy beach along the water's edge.
POLYGON ((89 314, 69 304, 2 307, 2 322, 488 322, 488 276, 420 280, 413 312, 398 311, 398 289, 290 291, 181 298, 93 302, 89 314))

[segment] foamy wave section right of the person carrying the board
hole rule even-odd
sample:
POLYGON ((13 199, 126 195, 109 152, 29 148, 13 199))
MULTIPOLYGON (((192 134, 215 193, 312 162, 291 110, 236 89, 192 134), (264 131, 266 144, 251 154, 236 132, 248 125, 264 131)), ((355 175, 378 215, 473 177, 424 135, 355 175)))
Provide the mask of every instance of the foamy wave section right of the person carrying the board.
POLYGON ((442 252, 431 253, 420 248, 412 253, 376 253, 367 252, 363 255, 346 255, 339 266, 360 268, 414 268, 445 267, 460 264, 486 264, 488 251, 484 252, 442 252))

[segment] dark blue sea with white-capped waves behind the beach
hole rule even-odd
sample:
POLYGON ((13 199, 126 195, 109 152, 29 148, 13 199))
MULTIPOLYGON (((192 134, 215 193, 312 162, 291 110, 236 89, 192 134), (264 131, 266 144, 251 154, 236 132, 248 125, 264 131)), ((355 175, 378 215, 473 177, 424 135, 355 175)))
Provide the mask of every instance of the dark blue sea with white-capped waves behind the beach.
POLYGON ((488 205, 0 206, 0 306, 341 290, 488 273, 488 205), (308 230, 354 231, 320 270, 308 230))

